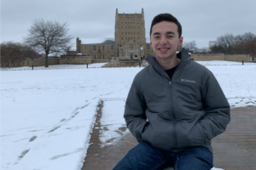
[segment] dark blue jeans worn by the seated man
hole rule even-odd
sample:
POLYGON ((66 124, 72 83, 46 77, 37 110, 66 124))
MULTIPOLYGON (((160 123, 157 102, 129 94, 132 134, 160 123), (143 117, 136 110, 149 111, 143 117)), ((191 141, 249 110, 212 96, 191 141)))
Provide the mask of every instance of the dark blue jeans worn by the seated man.
POLYGON ((204 146, 172 153, 141 142, 113 170, 160 170, 172 164, 175 170, 210 170, 212 152, 204 146))

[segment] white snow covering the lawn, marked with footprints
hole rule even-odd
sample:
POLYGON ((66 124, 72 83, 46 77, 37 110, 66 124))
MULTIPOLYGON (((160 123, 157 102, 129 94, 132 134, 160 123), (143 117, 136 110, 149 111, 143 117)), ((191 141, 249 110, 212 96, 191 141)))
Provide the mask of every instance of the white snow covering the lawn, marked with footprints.
MULTIPOLYGON (((102 142, 120 138, 124 100, 143 68, 81 66, 0 70, 0 169, 80 169, 101 99, 106 101, 101 123, 108 127, 102 142)), ((255 64, 207 61, 206 66, 232 107, 256 105, 255 64)))

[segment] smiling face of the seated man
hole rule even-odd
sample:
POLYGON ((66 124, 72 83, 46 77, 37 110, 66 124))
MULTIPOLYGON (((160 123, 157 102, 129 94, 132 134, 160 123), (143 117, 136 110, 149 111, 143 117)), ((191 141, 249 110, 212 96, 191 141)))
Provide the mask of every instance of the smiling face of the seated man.
POLYGON ((155 57, 168 59, 176 56, 177 47, 181 46, 183 37, 178 37, 177 25, 170 21, 161 21, 152 27, 150 45, 155 57))

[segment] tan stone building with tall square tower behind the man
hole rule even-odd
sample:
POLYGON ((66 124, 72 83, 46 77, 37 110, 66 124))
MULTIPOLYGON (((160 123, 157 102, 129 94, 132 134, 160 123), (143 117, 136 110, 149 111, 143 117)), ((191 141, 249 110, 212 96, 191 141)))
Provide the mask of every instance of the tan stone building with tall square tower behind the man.
POLYGON ((119 14, 116 8, 114 29, 113 43, 86 43, 78 37, 76 53, 90 55, 92 59, 135 58, 154 54, 149 38, 145 37, 143 8, 142 14, 119 14))

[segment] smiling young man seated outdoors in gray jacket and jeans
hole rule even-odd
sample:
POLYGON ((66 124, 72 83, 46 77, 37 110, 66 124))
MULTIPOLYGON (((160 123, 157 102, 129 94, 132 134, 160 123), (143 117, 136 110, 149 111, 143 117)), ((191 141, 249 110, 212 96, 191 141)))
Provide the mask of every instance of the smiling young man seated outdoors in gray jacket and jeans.
POLYGON ((211 140, 230 122, 230 105, 206 67, 189 60, 182 26, 171 14, 154 17, 154 56, 132 82, 125 121, 139 144, 114 169, 210 170, 211 140))

